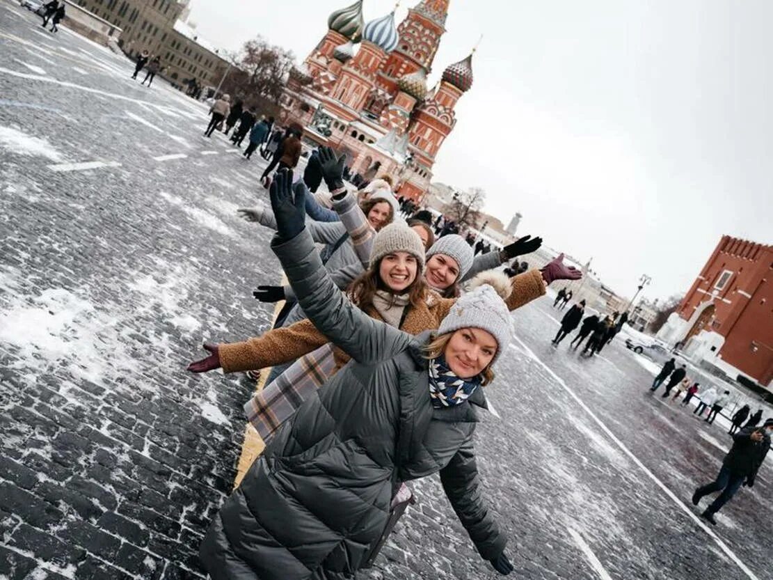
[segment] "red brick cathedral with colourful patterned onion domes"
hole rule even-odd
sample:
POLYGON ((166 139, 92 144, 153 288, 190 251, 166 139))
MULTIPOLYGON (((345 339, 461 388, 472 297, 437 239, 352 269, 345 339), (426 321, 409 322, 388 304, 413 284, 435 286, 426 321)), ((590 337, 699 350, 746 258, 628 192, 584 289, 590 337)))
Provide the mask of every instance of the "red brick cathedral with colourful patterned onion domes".
POLYGON ((427 88, 447 15, 448 0, 420 0, 399 25, 394 12, 366 23, 363 0, 332 12, 325 36, 291 70, 281 121, 346 152, 352 173, 391 176, 397 193, 421 200, 472 87, 471 53, 427 88))

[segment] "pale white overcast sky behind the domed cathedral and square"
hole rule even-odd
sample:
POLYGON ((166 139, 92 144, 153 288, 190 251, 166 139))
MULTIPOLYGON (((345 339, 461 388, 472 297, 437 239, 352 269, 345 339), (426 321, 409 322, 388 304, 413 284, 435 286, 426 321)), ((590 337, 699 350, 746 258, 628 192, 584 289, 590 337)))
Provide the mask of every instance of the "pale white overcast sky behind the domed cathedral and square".
MULTIPOLYGON (((351 2, 192 0, 190 20, 301 61, 351 2)), ((434 180, 483 187, 618 294, 642 273, 651 298, 686 292, 722 234, 773 243, 771 22, 768 0, 451 0, 431 84, 484 36, 434 180)))

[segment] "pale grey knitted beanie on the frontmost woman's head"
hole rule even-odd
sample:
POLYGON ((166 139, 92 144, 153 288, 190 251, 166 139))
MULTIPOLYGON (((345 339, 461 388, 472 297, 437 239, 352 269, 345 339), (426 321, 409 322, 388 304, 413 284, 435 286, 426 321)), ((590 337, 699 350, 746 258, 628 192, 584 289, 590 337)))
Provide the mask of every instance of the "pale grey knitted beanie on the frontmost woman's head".
POLYGON ((485 284, 461 296, 440 323, 438 334, 453 333, 462 328, 479 328, 491 333, 497 343, 492 363, 499 358, 510 343, 512 327, 510 311, 494 288, 485 284))

